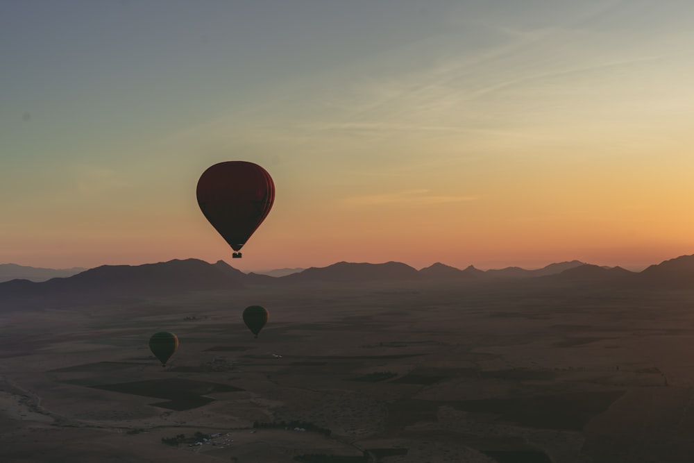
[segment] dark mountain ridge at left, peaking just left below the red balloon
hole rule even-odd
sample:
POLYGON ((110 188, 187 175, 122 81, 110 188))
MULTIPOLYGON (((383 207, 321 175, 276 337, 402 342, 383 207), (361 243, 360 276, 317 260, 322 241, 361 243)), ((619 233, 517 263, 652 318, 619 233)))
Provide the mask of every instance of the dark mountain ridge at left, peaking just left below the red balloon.
POLYGON ((41 283, 28 280, 0 283, 0 308, 117 303, 189 291, 242 287, 239 280, 219 267, 197 259, 137 266, 103 265, 41 283))

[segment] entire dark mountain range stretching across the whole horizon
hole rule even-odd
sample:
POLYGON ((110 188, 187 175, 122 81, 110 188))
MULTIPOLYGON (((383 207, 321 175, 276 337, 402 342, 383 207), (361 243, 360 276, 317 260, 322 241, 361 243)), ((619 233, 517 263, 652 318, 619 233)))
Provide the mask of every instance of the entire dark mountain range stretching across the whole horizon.
POLYGON ((402 262, 382 264, 337 262, 283 276, 244 273, 220 260, 171 260, 156 264, 103 265, 72 276, 43 282, 15 279, 0 283, 0 311, 12 308, 55 308, 71 305, 122 303, 192 291, 232 290, 256 285, 348 284, 359 282, 498 282, 532 278, 538 282, 624 283, 636 287, 694 287, 694 255, 655 264, 641 272, 599 267, 573 260, 542 269, 519 267, 482 271, 457 269, 437 262, 421 270, 402 262))

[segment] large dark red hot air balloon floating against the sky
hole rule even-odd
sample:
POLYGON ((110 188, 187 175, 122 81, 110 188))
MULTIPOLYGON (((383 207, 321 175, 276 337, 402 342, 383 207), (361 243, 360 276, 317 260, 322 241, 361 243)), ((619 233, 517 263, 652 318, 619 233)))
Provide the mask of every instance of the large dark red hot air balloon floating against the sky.
POLYGON ((240 258, 239 251, 262 224, 275 201, 275 184, 253 162, 219 162, 198 180, 198 205, 205 218, 240 258))

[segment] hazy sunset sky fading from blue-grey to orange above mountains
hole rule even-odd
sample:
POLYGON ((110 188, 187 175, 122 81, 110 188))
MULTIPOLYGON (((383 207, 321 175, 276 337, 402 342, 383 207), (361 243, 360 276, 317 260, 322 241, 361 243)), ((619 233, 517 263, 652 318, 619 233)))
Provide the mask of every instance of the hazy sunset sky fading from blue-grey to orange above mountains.
POLYGON ((0 263, 694 253, 694 2, 6 0, 0 263), (231 249, 210 165, 276 200, 231 249))

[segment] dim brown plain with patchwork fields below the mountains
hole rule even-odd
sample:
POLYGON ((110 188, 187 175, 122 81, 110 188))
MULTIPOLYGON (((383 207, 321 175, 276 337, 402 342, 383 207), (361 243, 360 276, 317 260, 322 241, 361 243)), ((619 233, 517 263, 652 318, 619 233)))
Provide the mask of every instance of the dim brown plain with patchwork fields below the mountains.
POLYGON ((694 291, 306 284, 0 313, 3 462, 694 461, 694 291))

